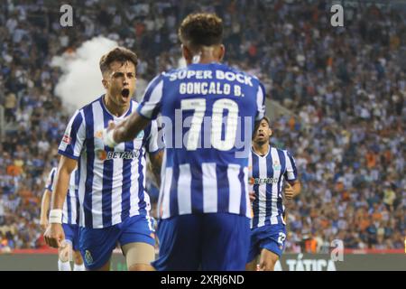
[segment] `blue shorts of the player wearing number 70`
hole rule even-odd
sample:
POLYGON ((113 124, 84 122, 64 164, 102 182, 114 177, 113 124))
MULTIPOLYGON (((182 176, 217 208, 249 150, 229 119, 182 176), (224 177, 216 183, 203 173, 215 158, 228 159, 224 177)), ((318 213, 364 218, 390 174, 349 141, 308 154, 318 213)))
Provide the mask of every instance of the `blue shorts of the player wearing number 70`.
POLYGON ((159 271, 245 270, 250 220, 228 213, 181 215, 158 222, 159 271))

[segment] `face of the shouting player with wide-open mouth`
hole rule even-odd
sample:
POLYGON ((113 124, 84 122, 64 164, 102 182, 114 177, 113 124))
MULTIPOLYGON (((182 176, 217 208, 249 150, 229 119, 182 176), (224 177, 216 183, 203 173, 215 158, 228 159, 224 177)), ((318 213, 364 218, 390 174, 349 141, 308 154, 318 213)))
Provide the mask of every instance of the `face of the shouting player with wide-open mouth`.
POLYGON ((128 106, 135 90, 134 63, 131 61, 112 62, 110 70, 104 76, 103 84, 109 100, 114 102, 115 106, 128 106))

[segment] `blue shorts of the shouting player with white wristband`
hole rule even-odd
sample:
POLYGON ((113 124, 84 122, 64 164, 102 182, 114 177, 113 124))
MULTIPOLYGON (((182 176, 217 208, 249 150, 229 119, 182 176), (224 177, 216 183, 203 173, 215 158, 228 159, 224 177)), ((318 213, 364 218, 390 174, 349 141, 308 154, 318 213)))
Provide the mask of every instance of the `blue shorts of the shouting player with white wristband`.
POLYGON ((136 215, 107 228, 80 227, 79 247, 86 268, 98 269, 106 265, 117 243, 141 242, 155 245, 150 217, 136 215))

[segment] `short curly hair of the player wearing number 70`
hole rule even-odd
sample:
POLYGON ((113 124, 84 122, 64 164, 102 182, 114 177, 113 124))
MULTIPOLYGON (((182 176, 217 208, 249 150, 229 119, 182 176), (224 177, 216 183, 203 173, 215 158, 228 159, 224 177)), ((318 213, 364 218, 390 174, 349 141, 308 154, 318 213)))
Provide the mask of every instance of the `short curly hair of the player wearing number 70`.
POLYGON ((223 21, 216 14, 189 14, 180 24, 180 42, 190 49, 212 46, 223 42, 223 21))

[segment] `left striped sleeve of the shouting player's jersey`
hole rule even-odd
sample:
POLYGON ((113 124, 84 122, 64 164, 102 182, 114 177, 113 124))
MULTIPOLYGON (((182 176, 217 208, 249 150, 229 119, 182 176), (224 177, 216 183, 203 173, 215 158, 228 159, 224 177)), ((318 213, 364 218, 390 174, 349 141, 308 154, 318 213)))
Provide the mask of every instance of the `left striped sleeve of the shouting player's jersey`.
POLYGON ((78 160, 83 144, 86 139, 86 127, 83 113, 78 110, 70 118, 65 134, 60 141, 58 153, 78 160))

